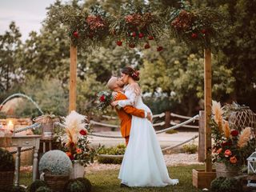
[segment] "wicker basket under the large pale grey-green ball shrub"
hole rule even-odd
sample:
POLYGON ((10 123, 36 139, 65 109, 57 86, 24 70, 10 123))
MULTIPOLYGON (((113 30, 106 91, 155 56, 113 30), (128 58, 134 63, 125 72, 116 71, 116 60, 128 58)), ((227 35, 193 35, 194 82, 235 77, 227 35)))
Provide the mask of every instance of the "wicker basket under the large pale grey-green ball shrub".
POLYGON ((50 186, 54 192, 62 192, 66 182, 68 182, 70 175, 55 175, 55 174, 46 174, 44 179, 46 183, 50 186))

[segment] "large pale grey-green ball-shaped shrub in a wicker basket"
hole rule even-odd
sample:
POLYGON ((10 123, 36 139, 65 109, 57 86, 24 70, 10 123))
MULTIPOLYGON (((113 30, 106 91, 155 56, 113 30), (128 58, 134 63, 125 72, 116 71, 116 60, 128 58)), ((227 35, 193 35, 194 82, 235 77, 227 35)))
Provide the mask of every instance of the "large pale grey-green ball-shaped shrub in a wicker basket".
POLYGON ((39 172, 69 175, 72 170, 70 158, 61 150, 50 150, 42 155, 39 162, 39 172))

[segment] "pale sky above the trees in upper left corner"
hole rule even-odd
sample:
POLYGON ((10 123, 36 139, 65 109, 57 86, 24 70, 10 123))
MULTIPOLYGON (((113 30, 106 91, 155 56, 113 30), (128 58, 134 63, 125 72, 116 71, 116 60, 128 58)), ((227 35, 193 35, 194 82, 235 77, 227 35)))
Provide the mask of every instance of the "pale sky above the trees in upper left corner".
POLYGON ((39 32, 46 18, 46 7, 55 0, 0 0, 0 34, 9 29, 11 21, 16 23, 24 42, 31 30, 39 32))

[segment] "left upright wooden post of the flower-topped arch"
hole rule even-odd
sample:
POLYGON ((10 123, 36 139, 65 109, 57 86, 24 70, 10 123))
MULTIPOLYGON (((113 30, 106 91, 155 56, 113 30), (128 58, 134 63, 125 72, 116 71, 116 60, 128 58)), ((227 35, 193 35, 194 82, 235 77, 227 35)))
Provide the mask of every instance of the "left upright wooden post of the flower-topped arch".
POLYGON ((76 110, 77 98, 77 58, 78 48, 70 43, 70 105, 71 110, 76 110))

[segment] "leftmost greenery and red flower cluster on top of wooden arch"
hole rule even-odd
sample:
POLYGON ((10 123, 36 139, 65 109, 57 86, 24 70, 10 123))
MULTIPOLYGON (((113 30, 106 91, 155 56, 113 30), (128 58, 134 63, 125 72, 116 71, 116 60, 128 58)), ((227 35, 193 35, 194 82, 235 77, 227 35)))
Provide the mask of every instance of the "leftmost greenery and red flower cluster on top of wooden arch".
POLYGON ((92 6, 87 11, 79 5, 58 3, 47 14, 49 25, 59 23, 66 27, 73 46, 88 50, 90 46, 102 45, 109 35, 108 14, 101 6, 92 6))

